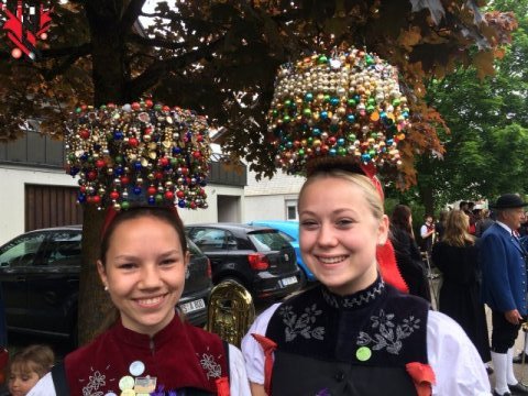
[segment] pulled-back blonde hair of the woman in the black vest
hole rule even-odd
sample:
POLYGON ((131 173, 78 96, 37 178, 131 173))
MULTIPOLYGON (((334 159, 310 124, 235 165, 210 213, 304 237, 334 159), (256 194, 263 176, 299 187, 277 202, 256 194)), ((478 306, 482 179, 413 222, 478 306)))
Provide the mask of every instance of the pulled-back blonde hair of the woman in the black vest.
POLYGON ((372 180, 363 175, 351 173, 348 170, 343 170, 340 168, 330 168, 330 169, 321 169, 314 172, 302 185, 302 188, 299 191, 299 201, 302 198, 302 195, 306 188, 311 185, 314 182, 322 179, 322 178, 341 178, 346 182, 350 182, 352 185, 358 187, 363 191, 363 196, 365 197, 369 207, 371 208, 371 212, 375 219, 382 220, 384 215, 383 209, 383 201, 380 197, 380 193, 377 191, 376 187, 372 183, 372 180))

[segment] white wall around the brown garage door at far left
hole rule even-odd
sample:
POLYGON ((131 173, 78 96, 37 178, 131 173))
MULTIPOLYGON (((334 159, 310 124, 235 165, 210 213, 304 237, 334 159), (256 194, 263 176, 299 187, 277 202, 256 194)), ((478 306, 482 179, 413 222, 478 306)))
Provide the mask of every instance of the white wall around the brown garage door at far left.
POLYGON ((25 184, 78 186, 77 179, 74 179, 62 169, 1 166, 0 244, 24 232, 25 184))

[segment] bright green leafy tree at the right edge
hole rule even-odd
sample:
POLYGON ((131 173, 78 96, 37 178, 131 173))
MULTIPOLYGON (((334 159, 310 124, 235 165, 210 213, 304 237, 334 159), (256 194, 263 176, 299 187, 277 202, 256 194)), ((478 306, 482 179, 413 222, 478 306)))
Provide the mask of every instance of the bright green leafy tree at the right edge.
POLYGON ((519 29, 496 75, 479 78, 474 67, 432 80, 428 100, 442 114, 449 133, 439 131, 442 157, 419 158, 418 186, 432 200, 429 210, 459 199, 494 199, 526 191, 528 157, 528 8, 526 1, 504 2, 516 12, 519 29))

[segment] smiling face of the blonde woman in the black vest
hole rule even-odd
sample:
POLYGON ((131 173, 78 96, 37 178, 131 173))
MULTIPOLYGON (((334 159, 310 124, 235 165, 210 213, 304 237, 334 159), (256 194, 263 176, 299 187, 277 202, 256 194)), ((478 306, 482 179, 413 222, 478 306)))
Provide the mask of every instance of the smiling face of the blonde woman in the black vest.
POLYGON ((356 293, 377 277, 376 245, 387 239, 388 219, 374 216, 366 197, 375 195, 374 189, 365 193, 361 184, 336 176, 317 177, 301 191, 302 258, 317 278, 336 294, 356 293))

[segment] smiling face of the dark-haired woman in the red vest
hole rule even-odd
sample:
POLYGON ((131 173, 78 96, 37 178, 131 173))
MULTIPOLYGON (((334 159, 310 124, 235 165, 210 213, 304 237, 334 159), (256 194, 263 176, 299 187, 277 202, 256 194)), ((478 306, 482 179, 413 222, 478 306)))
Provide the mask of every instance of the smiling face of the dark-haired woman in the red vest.
POLYGON ((154 336, 170 322, 188 261, 178 232, 162 219, 143 216, 116 227, 106 265, 97 266, 125 328, 154 336))

